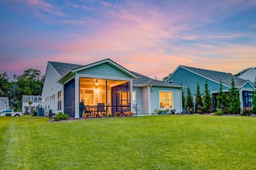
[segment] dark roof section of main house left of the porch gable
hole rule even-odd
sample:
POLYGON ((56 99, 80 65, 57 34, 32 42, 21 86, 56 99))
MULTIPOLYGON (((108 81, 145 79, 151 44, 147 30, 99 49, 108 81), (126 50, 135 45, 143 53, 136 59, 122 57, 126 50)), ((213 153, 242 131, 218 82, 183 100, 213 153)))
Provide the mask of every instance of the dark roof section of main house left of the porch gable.
POLYGON ((68 71, 72 69, 76 69, 83 65, 71 64, 71 63, 59 63, 54 61, 49 61, 49 63, 53 66, 53 68, 58 72, 60 76, 66 75, 68 71))

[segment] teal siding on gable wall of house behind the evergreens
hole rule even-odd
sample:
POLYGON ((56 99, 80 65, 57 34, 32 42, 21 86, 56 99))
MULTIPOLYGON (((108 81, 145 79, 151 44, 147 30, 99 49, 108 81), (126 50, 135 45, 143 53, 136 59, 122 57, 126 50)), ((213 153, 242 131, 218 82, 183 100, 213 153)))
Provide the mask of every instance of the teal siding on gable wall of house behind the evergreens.
MULTIPOLYGON (((200 75, 196 75, 195 73, 192 73, 186 69, 183 69, 182 67, 179 67, 179 69, 177 69, 177 71, 175 71, 175 73, 167 79, 167 82, 173 80, 174 84, 182 84, 182 86, 189 87, 192 96, 194 96, 196 94, 197 83, 200 84, 201 93, 203 93, 203 91, 205 90, 205 79, 206 78, 200 75)), ((218 92, 220 84, 209 79, 207 80, 209 84, 209 90, 218 92)), ((228 87, 223 86, 223 90, 228 90, 228 87)), ((184 88, 184 94, 186 95, 186 88, 184 88)))

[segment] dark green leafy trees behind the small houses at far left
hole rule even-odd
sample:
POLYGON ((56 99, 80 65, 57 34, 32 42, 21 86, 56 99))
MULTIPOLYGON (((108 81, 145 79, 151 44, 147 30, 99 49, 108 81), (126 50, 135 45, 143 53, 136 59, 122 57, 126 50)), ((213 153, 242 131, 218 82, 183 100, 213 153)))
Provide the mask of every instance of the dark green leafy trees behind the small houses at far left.
POLYGON ((28 69, 22 75, 0 73, 0 97, 9 97, 9 107, 22 110, 22 95, 41 95, 45 76, 37 69, 28 69))

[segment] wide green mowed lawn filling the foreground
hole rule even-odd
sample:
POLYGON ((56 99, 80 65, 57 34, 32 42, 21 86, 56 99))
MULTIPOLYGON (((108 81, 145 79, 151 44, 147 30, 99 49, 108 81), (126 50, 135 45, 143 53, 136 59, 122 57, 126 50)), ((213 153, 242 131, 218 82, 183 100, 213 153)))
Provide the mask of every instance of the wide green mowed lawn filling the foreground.
POLYGON ((0 169, 256 169, 256 118, 0 117, 0 169))

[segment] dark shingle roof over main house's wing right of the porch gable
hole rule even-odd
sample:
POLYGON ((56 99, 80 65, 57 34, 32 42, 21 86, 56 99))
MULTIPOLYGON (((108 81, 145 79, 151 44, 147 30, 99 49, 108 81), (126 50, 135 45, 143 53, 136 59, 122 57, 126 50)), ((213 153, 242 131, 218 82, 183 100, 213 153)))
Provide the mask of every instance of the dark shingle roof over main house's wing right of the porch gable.
POLYGON ((148 76, 144 76, 144 75, 140 75, 139 73, 135 73, 134 71, 132 71, 135 75, 138 75, 139 78, 133 80, 133 85, 155 85, 155 86, 170 86, 170 87, 180 87, 182 88, 182 86, 178 85, 178 84, 172 84, 169 82, 163 82, 160 80, 155 80, 153 78, 150 78, 148 76))

